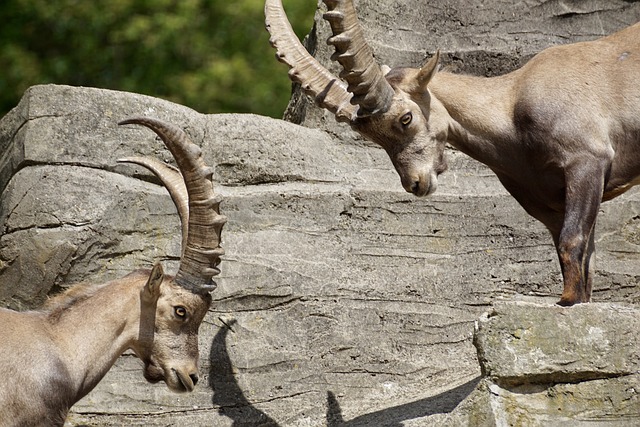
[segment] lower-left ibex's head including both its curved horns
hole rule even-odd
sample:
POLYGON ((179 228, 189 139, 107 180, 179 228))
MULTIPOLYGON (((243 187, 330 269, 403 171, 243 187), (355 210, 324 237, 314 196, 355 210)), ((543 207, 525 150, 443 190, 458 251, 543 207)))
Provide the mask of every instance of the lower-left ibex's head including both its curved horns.
POLYGON ((220 215, 222 197, 214 194, 213 170, 201 150, 179 128, 151 118, 140 124, 153 130, 176 159, 178 169, 155 159, 132 157, 155 173, 169 190, 182 223, 182 257, 175 277, 165 277, 157 264, 141 292, 140 331, 134 351, 145 364, 144 376, 164 381, 174 391, 192 391, 198 381, 198 328, 211 304, 224 253, 220 234, 226 217, 220 215))

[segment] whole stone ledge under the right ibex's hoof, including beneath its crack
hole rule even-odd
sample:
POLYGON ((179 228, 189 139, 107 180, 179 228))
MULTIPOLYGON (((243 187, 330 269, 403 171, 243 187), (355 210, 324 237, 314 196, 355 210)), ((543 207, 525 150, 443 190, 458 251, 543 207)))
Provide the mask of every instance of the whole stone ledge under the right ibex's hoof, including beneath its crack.
POLYGON ((637 306, 497 303, 475 336, 485 378, 448 419, 476 426, 638 425, 638 328, 637 306))

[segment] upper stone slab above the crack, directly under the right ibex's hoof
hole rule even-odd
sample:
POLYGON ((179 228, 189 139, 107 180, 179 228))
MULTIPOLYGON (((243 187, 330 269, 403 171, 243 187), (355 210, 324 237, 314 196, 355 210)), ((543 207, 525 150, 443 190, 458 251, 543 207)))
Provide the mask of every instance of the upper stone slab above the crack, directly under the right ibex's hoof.
POLYGON ((480 319, 483 374, 501 385, 574 383, 640 372, 638 310, 613 304, 559 307, 497 303, 480 319), (517 357, 516 357, 517 355, 517 357))

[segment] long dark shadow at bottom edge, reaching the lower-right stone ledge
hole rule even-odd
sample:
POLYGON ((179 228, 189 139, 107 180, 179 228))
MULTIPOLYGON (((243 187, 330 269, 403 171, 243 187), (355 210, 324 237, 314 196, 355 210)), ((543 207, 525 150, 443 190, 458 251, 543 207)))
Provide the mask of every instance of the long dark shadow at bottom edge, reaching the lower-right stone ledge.
POLYGON ((474 378, 444 393, 417 400, 405 405, 361 415, 350 421, 342 418, 342 410, 336 396, 327 395, 327 427, 402 427, 403 421, 435 414, 446 414, 454 410, 478 385, 481 377, 474 378))

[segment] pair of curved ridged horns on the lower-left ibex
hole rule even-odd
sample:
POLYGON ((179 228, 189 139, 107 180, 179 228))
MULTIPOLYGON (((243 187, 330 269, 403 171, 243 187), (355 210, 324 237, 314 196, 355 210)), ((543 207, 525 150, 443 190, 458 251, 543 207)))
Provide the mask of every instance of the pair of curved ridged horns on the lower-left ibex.
MULTIPOLYGON (((153 130, 165 143, 182 173, 184 186, 175 184, 177 171, 160 162, 133 158, 158 176, 163 183, 169 182, 169 193, 181 215, 183 235, 182 257, 175 276, 178 285, 194 292, 210 292, 216 284, 211 280, 220 274, 218 265, 224 250, 220 247, 220 235, 227 218, 220 215, 222 197, 213 192, 211 177, 213 169, 202 160, 202 150, 195 145, 182 129, 148 117, 124 120, 119 125, 138 124, 153 130), (188 209, 184 210, 185 190, 188 209), (182 207, 181 207, 182 206, 182 207), (182 212, 181 212, 182 211, 182 212), (186 218, 185 218, 186 217, 186 218), (187 225, 185 226, 185 222, 187 225), (185 230, 186 229, 186 230, 185 230)), ((125 161, 131 159, 124 159, 125 161)))

